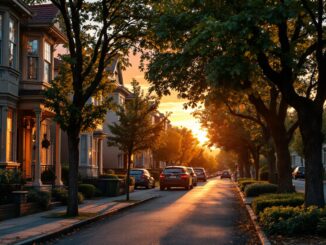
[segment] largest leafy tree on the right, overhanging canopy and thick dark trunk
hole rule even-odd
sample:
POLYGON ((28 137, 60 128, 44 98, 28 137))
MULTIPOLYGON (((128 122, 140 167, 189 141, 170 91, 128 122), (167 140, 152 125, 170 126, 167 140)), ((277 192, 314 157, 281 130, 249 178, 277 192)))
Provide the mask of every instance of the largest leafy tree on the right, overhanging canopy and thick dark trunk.
POLYGON ((195 100, 217 86, 246 89, 257 73, 265 85, 274 84, 298 113, 306 160, 305 205, 320 207, 324 5, 322 0, 154 4, 160 17, 151 22, 156 52, 150 54, 147 73, 159 92, 169 93, 173 87, 182 97, 195 100))

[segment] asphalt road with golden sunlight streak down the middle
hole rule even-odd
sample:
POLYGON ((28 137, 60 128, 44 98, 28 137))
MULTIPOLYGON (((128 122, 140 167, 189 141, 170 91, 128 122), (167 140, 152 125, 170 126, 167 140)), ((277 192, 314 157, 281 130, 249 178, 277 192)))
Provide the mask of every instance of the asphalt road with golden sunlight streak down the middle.
POLYGON ((229 180, 193 190, 152 191, 161 197, 88 225, 55 244, 259 244, 229 180))

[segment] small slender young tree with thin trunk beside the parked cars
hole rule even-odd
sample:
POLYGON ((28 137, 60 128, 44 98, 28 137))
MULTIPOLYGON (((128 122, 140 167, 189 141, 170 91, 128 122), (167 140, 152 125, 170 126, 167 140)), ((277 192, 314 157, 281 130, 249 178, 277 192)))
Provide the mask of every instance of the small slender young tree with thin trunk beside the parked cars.
POLYGON ((108 125, 111 135, 110 146, 117 146, 127 154, 126 199, 129 200, 130 166, 132 155, 154 148, 163 130, 166 117, 153 123, 153 114, 157 111, 159 100, 150 94, 144 95, 136 80, 132 83, 132 98, 117 110, 119 121, 108 125))

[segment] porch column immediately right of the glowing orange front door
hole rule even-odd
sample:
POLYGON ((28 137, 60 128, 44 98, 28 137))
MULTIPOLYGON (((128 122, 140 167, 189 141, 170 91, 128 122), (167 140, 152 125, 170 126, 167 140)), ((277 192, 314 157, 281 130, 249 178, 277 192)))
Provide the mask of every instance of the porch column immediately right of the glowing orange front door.
POLYGON ((42 111, 37 108, 34 110, 36 116, 36 142, 35 142, 35 169, 33 186, 42 186, 41 181, 41 117, 42 111))

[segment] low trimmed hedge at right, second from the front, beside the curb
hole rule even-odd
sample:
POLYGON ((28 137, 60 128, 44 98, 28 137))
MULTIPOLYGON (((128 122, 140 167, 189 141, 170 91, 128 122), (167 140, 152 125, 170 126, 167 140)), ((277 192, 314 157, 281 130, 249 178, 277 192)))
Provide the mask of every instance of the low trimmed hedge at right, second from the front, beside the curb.
POLYGON ((304 203, 304 195, 301 193, 266 194, 254 198, 251 203, 256 214, 264 211, 265 208, 274 206, 297 207, 304 203))

